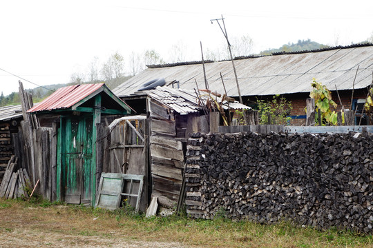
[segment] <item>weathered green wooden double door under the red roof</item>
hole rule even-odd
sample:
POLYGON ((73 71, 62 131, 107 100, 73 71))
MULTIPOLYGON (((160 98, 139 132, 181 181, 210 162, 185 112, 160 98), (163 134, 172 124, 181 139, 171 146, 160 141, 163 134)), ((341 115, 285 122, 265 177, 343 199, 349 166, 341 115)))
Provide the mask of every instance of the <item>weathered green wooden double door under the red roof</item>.
POLYGON ((64 118, 62 126, 62 192, 66 203, 90 203, 92 198, 92 116, 64 118))

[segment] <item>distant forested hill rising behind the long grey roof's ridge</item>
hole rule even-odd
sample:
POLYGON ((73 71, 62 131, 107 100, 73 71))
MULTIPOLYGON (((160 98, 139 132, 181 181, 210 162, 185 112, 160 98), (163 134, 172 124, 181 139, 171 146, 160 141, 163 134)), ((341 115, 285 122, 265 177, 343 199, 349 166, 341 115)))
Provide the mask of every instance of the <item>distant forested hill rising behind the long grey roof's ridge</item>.
POLYGON ((321 48, 329 48, 329 46, 317 43, 316 41, 311 41, 310 39, 303 41, 298 40, 297 43, 287 43, 282 45, 280 48, 262 51, 260 52, 260 55, 270 55, 274 52, 298 52, 304 50, 317 50, 321 48))

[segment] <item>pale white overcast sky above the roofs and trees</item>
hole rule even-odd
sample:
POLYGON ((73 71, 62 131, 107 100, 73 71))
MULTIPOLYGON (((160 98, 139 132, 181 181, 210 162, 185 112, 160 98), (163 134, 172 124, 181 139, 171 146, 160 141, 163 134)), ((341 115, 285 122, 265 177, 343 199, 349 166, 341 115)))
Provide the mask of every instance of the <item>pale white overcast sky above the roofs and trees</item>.
POLYGON ((210 21, 222 15, 228 37, 251 37, 253 53, 303 39, 350 45, 373 35, 372 9, 372 0, 0 0, 0 94, 17 92, 19 80, 25 88, 69 83, 114 52, 125 63, 145 50, 167 61, 182 44, 186 61, 200 61, 200 42, 217 50, 225 41, 210 21))

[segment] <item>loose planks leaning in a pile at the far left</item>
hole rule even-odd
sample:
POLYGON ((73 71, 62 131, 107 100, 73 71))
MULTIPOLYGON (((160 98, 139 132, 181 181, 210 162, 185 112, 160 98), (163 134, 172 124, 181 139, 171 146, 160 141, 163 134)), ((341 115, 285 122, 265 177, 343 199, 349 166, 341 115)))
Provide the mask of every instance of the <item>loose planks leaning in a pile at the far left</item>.
POLYGON ((28 197, 28 190, 31 188, 30 178, 26 169, 17 169, 18 158, 14 155, 10 158, 3 181, 0 185, 0 197, 18 198, 28 197))

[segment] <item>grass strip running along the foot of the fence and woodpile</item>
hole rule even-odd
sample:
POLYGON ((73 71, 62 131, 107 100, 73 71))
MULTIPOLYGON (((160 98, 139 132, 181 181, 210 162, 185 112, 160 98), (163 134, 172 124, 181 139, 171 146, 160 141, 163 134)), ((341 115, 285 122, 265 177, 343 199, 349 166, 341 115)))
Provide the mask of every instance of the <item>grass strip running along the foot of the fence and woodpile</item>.
POLYGON ((131 209, 108 211, 82 205, 4 199, 0 199, 0 209, 2 215, 17 220, 0 222, 0 234, 18 230, 21 224, 22 228, 48 232, 44 235, 49 236, 66 234, 113 241, 125 237, 146 242, 180 242, 183 247, 373 247, 372 235, 338 229, 318 231, 296 227, 289 221, 260 225, 234 222, 223 216, 215 220, 176 215, 145 218, 131 209))

